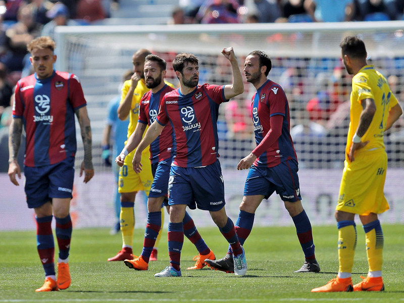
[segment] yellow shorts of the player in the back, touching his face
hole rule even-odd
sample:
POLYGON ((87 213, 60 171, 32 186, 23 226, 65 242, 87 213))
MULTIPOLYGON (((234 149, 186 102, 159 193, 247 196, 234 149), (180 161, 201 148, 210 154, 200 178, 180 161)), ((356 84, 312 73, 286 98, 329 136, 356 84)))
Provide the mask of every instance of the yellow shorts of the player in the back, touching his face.
POLYGON ((147 153, 142 153, 141 164, 142 171, 138 174, 132 168, 132 160, 135 150, 125 157, 124 165, 119 170, 118 192, 134 192, 144 190, 146 195, 150 191, 151 183, 153 183, 153 174, 151 174, 151 165, 149 160, 149 149, 147 153))

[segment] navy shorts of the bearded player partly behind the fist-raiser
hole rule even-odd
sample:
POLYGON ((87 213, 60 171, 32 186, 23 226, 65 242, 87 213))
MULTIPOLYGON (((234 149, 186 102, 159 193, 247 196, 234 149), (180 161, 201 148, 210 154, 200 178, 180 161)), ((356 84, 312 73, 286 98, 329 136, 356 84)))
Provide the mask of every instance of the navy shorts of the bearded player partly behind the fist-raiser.
POLYGON ((153 174, 153 183, 151 184, 149 197, 158 198, 165 196, 163 205, 168 206, 168 179, 170 178, 172 159, 162 160, 151 164, 151 173, 153 174))

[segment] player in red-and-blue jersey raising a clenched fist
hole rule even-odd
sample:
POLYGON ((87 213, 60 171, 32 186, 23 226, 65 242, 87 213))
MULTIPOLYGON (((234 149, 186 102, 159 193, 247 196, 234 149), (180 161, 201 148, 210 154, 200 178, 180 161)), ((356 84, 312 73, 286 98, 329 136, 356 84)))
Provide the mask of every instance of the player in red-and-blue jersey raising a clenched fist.
POLYGON ((170 266, 155 274, 155 277, 181 276, 183 219, 187 205, 190 209, 197 206, 210 212, 213 221, 233 249, 235 274, 244 275, 247 271, 244 249, 224 208, 224 183, 218 160, 219 140, 216 124, 219 105, 241 94, 244 86, 233 48, 224 48, 222 54, 230 61, 233 73, 233 84, 223 86, 198 85, 199 68, 196 56, 182 53, 175 57, 173 68, 180 81, 180 87, 163 97, 157 119, 150 125, 133 158, 133 169, 141 172, 141 151, 160 135, 165 125, 172 125, 176 150, 168 185, 170 266))

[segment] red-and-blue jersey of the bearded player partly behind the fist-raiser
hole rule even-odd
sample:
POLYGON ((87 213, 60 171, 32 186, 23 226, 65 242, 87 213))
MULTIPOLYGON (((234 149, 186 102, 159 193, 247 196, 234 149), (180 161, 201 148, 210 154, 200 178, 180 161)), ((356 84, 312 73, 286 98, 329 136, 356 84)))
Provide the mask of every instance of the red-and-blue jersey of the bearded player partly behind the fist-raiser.
MULTIPOLYGON (((159 113, 160 102, 163 96, 172 91, 174 88, 164 85, 158 92, 153 93, 151 90, 146 92, 140 100, 139 119, 137 122, 148 124, 155 122, 159 113)), ((167 125, 160 136, 150 144, 150 161, 151 164, 158 163, 173 157, 174 133, 171 125, 167 125)))

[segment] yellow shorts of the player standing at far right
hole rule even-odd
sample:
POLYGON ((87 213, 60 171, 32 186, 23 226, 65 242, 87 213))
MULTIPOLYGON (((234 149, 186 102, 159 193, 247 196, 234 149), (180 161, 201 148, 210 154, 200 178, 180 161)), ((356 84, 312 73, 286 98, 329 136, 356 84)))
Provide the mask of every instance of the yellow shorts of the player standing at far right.
POLYGON ((386 170, 387 154, 382 148, 357 153, 354 162, 345 160, 336 210, 363 216, 387 211, 386 170))

